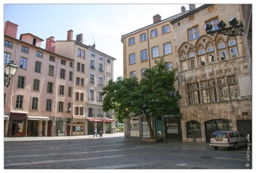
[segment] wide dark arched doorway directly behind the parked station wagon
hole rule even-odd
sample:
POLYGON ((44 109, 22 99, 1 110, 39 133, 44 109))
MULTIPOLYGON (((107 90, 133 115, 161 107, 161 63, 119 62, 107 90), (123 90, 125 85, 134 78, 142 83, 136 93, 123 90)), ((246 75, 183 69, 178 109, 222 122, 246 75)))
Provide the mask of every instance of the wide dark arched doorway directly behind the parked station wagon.
POLYGON ((230 119, 212 119, 205 122, 206 140, 210 142, 210 135, 213 131, 232 131, 232 122, 230 119))

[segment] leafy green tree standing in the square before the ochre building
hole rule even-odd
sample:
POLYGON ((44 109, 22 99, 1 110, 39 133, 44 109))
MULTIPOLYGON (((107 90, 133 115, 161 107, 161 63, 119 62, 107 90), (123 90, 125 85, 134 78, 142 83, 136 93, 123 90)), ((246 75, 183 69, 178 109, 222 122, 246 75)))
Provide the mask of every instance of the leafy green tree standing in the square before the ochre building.
POLYGON ((181 96, 175 90, 177 69, 169 70, 164 57, 154 61, 155 66, 148 68, 140 81, 136 78, 109 80, 103 87, 103 111, 113 109, 118 120, 135 116, 145 116, 148 121, 150 138, 154 138, 151 119, 160 115, 178 114, 181 96))

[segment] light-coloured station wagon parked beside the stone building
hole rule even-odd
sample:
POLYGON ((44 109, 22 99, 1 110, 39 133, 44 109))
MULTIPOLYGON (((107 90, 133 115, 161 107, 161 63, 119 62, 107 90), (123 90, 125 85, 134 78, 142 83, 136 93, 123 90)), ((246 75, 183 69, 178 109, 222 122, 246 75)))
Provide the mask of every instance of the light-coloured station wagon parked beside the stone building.
POLYGON ((215 150, 219 147, 233 148, 237 150, 240 146, 246 146, 247 139, 240 131, 213 131, 210 146, 215 150))

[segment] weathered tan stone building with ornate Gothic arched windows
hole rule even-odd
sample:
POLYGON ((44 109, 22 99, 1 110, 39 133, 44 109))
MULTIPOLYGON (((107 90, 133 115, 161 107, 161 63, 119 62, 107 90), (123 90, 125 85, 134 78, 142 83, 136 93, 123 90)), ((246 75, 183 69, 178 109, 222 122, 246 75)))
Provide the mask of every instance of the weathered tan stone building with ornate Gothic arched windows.
MULTIPOLYGON (((174 25, 182 140, 209 142, 212 131, 252 134, 252 87, 241 35, 207 35, 205 24, 241 21, 239 4, 205 4, 174 25)), ((252 135, 251 135, 252 136, 252 135)))

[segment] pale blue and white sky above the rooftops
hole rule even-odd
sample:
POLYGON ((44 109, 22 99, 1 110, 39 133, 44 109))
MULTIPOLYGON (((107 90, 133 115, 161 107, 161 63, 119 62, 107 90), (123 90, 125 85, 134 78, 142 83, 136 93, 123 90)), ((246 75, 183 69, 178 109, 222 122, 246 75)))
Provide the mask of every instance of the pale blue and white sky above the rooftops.
MULTIPOLYGON (((67 32, 73 30, 76 35, 83 35, 83 43, 92 45, 104 54, 114 57, 114 80, 123 76, 121 35, 153 24, 153 16, 161 19, 181 13, 186 3, 3 3, 3 23, 10 21, 18 25, 17 39, 21 34, 31 33, 44 41, 50 36, 55 41, 67 40, 67 32)), ((26 1, 25 1, 26 2, 26 1)), ((29 1, 30 2, 30 1, 29 1)), ((45 1, 43 1, 45 2, 45 1)), ((73 2, 73 1, 72 1, 73 2)), ((88 1, 83 1, 88 2, 88 1)), ((121 2, 121 1, 117 1, 121 2)), ((161 2, 161 1, 158 1, 161 2)), ((201 4, 195 3, 196 8, 201 4)))

